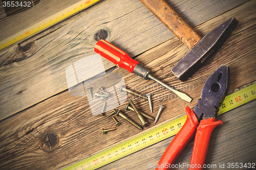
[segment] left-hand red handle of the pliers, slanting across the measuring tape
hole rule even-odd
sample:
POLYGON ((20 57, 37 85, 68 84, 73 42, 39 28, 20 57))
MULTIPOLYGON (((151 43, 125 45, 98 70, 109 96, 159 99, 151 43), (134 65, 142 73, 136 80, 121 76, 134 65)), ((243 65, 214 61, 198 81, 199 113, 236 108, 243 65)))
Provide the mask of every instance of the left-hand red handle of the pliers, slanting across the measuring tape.
POLYGON ((196 134, 197 126, 199 124, 198 119, 193 110, 190 110, 189 107, 186 107, 185 109, 187 114, 186 122, 168 145, 158 162, 157 170, 170 169, 172 164, 175 163, 182 151, 186 148, 186 145, 196 134))

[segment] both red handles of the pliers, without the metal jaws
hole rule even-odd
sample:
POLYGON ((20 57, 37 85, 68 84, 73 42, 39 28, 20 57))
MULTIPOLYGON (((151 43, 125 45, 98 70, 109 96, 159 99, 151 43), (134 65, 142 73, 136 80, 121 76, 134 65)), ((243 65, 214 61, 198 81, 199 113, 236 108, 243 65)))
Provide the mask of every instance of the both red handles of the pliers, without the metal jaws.
POLYGON ((156 168, 158 170, 170 169, 189 141, 195 136, 195 133, 196 137, 189 169, 203 169, 211 132, 215 127, 222 124, 222 120, 216 121, 215 118, 208 118, 201 120, 199 124, 193 110, 190 110, 189 107, 186 107, 185 110, 187 114, 186 122, 165 150, 156 168))

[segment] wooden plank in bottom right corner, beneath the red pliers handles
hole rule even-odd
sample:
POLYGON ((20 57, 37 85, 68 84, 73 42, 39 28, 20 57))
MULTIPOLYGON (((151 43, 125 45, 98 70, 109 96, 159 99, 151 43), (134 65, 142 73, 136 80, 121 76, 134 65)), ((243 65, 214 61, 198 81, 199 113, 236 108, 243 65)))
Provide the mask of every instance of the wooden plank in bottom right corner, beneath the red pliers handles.
MULTIPOLYGON (((220 127, 215 128, 211 134, 209 150, 205 164, 211 168, 206 169, 249 169, 248 163, 256 164, 256 101, 231 110, 217 117, 223 120, 220 127), (238 163, 242 168, 228 168, 228 163, 238 163), (220 168, 224 164, 224 168, 220 168), (215 167, 216 165, 216 167, 215 167)), ((126 156, 99 169, 155 169, 161 156, 174 137, 158 142, 137 153, 126 156)), ((176 161, 172 169, 188 169, 194 145, 194 138, 188 143, 185 150, 176 161), (182 166, 185 163, 184 167, 182 166)), ((256 166, 256 165, 255 165, 256 166)), ((255 167, 254 166, 254 167, 255 167)), ((223 167, 223 166, 222 166, 223 167)))

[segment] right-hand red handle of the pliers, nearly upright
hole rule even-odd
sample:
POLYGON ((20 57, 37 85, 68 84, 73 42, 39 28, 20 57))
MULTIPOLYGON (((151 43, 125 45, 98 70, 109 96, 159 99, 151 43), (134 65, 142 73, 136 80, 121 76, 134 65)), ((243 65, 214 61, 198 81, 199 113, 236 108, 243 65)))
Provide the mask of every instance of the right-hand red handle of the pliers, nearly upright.
POLYGON ((197 127, 189 170, 203 169, 208 152, 211 132, 214 130, 214 128, 220 125, 222 125, 222 120, 216 121, 215 118, 201 120, 199 126, 197 127))

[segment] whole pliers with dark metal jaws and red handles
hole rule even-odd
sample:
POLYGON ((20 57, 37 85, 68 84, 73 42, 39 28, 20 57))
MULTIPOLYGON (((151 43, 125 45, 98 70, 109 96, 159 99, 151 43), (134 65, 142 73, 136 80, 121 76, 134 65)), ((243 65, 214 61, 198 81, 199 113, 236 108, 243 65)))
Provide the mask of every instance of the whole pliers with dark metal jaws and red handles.
POLYGON ((215 127, 222 125, 216 121, 219 105, 225 99, 228 85, 228 66, 221 65, 208 77, 194 110, 186 107, 187 119, 161 157, 156 169, 170 169, 196 134, 189 169, 203 169, 210 136, 215 127))

